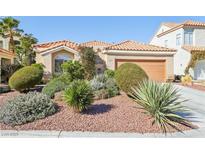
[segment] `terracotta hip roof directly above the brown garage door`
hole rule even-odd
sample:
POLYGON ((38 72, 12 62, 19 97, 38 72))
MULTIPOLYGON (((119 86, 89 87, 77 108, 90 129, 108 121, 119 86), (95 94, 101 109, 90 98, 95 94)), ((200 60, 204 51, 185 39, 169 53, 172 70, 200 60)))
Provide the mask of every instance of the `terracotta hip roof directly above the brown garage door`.
POLYGON ((175 49, 169 49, 165 47, 159 47, 155 45, 149 45, 149 44, 142 44, 135 41, 124 41, 116 45, 112 45, 106 48, 107 50, 129 50, 129 51, 173 51, 175 52, 175 49))

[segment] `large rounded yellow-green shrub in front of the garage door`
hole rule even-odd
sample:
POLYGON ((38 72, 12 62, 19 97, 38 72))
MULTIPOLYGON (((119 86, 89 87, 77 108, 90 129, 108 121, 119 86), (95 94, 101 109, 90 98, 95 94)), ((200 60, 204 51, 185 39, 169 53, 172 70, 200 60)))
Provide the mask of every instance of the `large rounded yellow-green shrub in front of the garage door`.
POLYGON ((147 78, 148 76, 145 71, 138 65, 132 63, 120 65, 115 72, 117 85, 126 93, 131 90, 131 87, 137 86, 139 82, 147 78))

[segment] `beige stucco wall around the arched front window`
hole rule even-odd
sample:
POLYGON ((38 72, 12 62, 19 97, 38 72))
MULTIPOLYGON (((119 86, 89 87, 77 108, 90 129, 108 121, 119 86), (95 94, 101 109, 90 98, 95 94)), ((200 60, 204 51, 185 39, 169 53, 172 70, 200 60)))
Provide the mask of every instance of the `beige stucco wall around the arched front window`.
POLYGON ((46 73, 54 73, 55 69, 55 57, 59 54, 68 55, 71 59, 78 59, 78 55, 75 55, 74 53, 68 51, 68 50, 59 50, 55 51, 53 53, 48 52, 46 54, 44 53, 36 53, 36 63, 42 63, 45 66, 45 72, 46 73))

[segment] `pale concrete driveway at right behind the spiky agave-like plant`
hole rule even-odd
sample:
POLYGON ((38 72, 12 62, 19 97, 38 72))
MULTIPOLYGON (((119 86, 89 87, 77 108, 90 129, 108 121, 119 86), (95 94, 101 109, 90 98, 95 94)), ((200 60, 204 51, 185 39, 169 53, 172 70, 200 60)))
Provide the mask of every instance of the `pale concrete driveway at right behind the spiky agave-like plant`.
POLYGON ((180 89, 184 99, 188 99, 184 105, 190 109, 190 114, 185 116, 197 126, 205 128, 205 92, 180 85, 175 87, 180 89))

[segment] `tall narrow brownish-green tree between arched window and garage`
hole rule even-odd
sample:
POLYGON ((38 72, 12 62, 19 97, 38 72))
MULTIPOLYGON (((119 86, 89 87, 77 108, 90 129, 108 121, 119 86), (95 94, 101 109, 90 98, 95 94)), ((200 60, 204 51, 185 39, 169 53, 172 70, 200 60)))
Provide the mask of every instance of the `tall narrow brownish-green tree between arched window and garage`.
POLYGON ((95 76, 96 53, 93 48, 81 48, 81 62, 85 69, 85 78, 91 80, 95 76))

